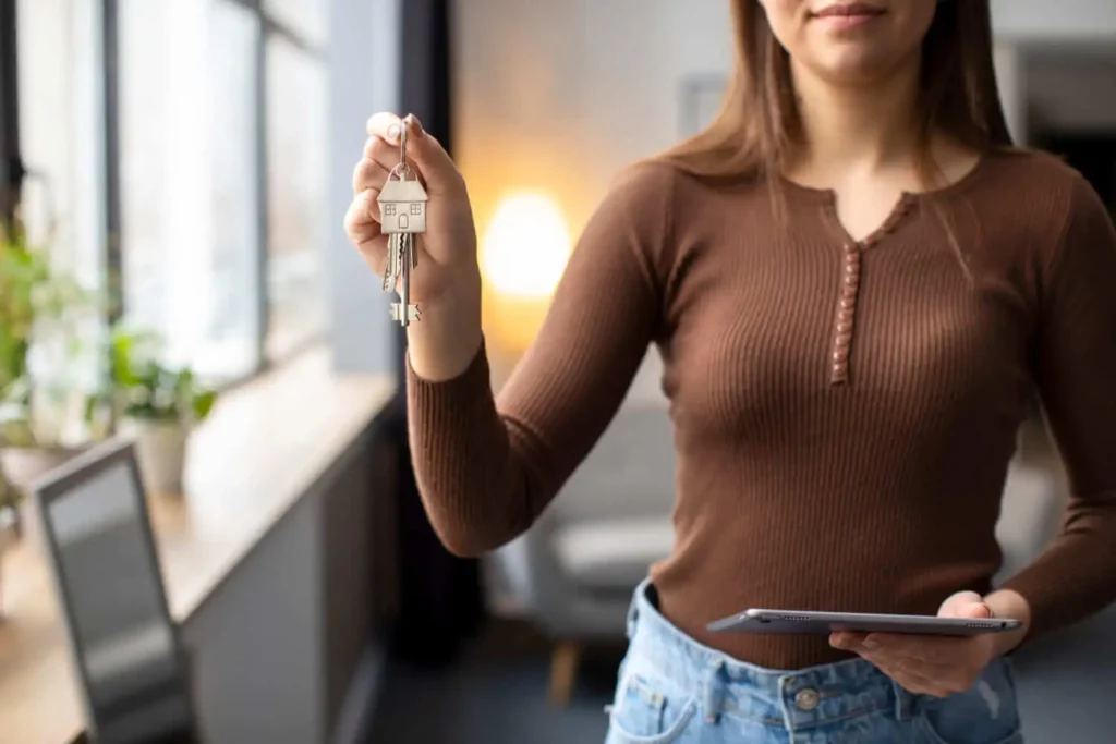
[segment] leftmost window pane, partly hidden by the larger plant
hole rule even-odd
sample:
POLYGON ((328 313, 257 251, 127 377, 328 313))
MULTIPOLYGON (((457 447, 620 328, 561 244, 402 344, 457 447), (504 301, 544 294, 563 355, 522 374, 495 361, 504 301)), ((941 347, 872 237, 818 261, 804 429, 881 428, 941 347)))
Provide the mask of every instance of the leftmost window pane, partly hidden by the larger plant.
MULTIPOLYGON (((20 149, 29 171, 22 216, 31 244, 49 253, 60 276, 89 290, 105 279, 95 12, 95 0, 17 6, 20 149)), ((77 322, 71 315, 40 325, 28 360, 35 380, 31 424, 44 445, 77 443, 86 435, 80 390, 98 381, 103 323, 92 306, 79 315, 77 322)))

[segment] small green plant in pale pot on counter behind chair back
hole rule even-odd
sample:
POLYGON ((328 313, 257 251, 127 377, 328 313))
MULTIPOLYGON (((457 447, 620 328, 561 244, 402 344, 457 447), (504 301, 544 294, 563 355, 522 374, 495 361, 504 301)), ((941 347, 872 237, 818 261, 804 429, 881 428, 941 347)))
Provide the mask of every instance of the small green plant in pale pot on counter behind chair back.
POLYGON ((136 460, 151 493, 181 494, 186 445, 217 393, 198 384, 189 367, 160 360, 160 339, 150 332, 112 332, 109 386, 90 400, 94 431, 122 428, 135 439, 136 460))

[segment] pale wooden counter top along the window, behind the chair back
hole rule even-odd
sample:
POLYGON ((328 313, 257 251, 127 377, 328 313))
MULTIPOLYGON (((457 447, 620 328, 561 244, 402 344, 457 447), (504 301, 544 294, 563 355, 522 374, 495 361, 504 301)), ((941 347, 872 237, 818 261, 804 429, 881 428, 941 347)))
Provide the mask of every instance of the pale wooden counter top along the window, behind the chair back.
MULTIPOLYGON (((379 377, 335 376, 314 350, 222 398, 195 433, 186 495, 148 503, 171 611, 185 622, 394 394, 379 377)), ((0 741, 67 744, 81 712, 48 569, 29 535, 3 558, 0 741)))

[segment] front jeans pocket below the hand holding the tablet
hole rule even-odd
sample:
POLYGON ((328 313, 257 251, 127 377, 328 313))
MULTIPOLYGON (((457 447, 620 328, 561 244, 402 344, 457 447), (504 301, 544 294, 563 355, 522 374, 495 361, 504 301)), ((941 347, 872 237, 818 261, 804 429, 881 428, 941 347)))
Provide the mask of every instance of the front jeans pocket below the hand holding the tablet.
POLYGON ((992 664, 968 692, 924 698, 917 725, 927 744, 1022 744, 1009 665, 992 664))

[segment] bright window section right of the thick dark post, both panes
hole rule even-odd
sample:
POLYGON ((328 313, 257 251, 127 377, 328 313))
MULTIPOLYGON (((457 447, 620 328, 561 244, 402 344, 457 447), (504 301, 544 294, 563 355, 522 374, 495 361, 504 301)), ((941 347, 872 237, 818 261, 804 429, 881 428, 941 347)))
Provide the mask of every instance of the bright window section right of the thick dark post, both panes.
POLYGON ((326 328, 320 2, 118 3, 124 319, 242 378, 326 328))

